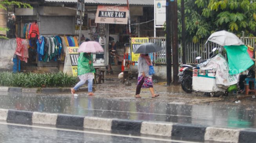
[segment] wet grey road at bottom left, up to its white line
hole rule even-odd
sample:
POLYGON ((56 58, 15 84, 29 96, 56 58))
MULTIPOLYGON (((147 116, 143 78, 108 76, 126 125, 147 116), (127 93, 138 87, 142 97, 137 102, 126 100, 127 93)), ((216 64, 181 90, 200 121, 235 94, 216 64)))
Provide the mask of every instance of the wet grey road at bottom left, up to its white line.
MULTIPOLYGON (((0 122, 1 143, 189 143, 140 136, 123 136, 104 132, 57 129, 0 122)), ((191 142, 192 143, 192 142, 191 142)))

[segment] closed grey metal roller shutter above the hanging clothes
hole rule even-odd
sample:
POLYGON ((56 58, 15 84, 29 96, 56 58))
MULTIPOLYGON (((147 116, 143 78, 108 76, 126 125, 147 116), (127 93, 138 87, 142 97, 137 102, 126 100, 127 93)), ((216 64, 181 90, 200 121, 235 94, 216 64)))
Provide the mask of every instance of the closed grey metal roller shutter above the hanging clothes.
POLYGON ((40 34, 74 34, 74 16, 40 16, 40 34))

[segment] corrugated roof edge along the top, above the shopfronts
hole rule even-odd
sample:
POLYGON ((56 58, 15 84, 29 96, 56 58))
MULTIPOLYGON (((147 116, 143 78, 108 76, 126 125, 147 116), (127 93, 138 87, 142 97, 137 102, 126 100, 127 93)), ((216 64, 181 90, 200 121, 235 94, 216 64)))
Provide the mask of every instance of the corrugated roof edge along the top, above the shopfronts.
MULTIPOLYGON (((77 0, 44 0, 45 2, 76 3, 77 0)), ((127 0, 85 0, 85 4, 125 5, 127 0)), ((154 0, 129 0, 130 5, 154 5, 154 0)))

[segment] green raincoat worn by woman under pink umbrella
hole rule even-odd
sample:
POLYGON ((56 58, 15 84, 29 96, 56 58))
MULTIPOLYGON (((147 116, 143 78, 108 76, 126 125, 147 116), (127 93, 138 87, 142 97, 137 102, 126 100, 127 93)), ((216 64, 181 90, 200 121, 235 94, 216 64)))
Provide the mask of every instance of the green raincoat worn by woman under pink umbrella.
POLYGON ((89 55, 87 53, 80 53, 78 57, 78 75, 83 75, 85 73, 95 73, 93 67, 93 55, 89 55), (89 64, 91 61, 91 64, 89 64))

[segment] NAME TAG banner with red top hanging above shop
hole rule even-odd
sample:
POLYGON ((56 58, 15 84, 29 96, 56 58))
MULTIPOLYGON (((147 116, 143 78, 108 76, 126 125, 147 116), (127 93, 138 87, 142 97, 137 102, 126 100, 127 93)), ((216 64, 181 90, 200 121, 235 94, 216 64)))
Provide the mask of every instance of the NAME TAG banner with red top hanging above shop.
POLYGON ((128 7, 98 5, 95 23, 127 24, 128 7))

